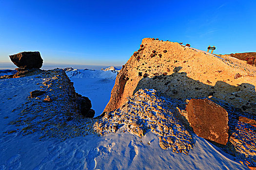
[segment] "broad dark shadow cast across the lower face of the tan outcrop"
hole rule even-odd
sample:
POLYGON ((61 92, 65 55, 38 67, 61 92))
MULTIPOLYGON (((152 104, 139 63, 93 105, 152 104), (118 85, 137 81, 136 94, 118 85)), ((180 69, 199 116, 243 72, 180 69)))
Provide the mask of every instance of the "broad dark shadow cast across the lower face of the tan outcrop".
POLYGON ((187 76, 186 72, 179 72, 182 67, 174 68, 171 75, 156 75, 152 78, 143 78, 139 81, 133 94, 140 88, 156 89, 158 92, 175 99, 208 98, 221 101, 224 105, 231 105, 237 112, 248 112, 252 116, 256 113, 255 86, 242 83, 229 85, 226 82, 217 81, 209 85, 194 80, 187 76))

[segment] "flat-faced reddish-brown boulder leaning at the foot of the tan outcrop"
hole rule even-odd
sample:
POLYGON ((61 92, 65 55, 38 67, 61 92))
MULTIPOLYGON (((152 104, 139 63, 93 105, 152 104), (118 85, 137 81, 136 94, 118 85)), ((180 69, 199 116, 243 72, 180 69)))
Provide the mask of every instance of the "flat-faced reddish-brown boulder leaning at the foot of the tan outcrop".
POLYGON ((191 99, 186 110, 197 136, 226 145, 229 127, 225 109, 207 99, 191 99))

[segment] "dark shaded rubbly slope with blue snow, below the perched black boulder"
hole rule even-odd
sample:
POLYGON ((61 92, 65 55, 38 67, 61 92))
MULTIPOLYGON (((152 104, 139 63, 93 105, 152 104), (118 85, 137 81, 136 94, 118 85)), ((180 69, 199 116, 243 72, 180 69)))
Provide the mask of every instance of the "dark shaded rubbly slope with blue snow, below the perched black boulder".
POLYGON ((37 95, 31 92, 27 102, 14 108, 13 112, 22 108, 19 118, 10 122, 17 128, 4 133, 29 135, 40 131, 40 138, 48 136, 62 140, 94 134, 92 127, 96 120, 81 116, 81 96, 62 69, 42 71, 30 77, 37 80, 41 92, 37 95))

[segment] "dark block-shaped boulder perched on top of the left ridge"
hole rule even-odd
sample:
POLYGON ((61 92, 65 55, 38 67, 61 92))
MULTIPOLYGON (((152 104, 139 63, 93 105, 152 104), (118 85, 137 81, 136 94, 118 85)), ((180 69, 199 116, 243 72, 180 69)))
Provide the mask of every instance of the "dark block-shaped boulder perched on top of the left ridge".
POLYGON ((10 59, 19 68, 41 68, 43 63, 38 51, 20 52, 10 55, 10 59))

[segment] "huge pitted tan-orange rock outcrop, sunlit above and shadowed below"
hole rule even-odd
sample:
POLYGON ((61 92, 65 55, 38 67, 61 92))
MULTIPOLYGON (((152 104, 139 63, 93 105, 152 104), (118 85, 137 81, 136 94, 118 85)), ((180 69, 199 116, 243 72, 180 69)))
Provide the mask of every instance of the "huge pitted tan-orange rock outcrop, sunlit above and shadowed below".
POLYGON ((199 51, 170 41, 144 38, 119 71, 104 111, 119 108, 140 88, 176 99, 214 96, 244 111, 256 102, 256 67, 230 56, 199 51), (237 76, 237 75, 240 76, 237 76))

